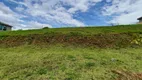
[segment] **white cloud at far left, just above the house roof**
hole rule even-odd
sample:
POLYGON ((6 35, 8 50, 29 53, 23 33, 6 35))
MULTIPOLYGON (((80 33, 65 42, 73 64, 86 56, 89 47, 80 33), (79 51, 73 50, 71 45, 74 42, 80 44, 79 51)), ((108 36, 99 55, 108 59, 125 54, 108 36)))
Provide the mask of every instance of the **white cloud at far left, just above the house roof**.
POLYGON ((42 24, 39 22, 26 22, 24 20, 21 20, 21 18, 25 17, 24 15, 17 14, 16 12, 12 11, 9 7, 7 7, 5 4, 0 2, 0 21, 4 23, 8 23, 13 27, 14 30, 17 29, 36 29, 36 28, 42 28, 43 26, 51 27, 49 24, 42 24), (22 24, 22 22, 26 24, 22 24))

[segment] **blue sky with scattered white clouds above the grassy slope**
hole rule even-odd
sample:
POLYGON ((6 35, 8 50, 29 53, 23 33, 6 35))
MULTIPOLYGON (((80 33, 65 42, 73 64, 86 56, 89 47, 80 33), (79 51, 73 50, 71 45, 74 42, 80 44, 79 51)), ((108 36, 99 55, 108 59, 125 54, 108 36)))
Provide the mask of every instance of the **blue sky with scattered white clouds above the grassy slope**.
POLYGON ((0 21, 13 30, 134 24, 142 0, 0 0, 0 21))

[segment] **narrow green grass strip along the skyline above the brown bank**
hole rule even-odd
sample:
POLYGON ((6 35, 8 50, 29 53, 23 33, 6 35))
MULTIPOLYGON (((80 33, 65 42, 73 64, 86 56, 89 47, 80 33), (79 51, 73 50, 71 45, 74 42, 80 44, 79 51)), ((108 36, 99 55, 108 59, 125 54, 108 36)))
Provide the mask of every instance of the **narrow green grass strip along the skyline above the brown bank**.
POLYGON ((0 36, 15 36, 15 35, 29 35, 29 34, 48 34, 48 33, 62 33, 68 34, 70 32, 78 32, 84 35, 94 35, 98 33, 124 33, 124 32, 142 32, 142 25, 119 25, 106 27, 74 27, 74 28, 52 28, 52 29, 37 29, 37 30, 19 30, 0 32, 0 36))

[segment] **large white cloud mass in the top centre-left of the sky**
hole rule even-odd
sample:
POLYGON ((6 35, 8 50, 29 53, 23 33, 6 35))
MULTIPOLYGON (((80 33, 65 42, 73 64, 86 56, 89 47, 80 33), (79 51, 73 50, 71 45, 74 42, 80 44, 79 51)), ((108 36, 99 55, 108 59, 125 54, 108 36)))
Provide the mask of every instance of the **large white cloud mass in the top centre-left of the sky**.
MULTIPOLYGON (((8 0, 19 6, 15 9, 19 12, 42 18, 44 21, 53 22, 56 25, 64 24, 69 26, 84 26, 85 24, 73 16, 77 11, 86 12, 90 6, 102 0, 8 0), (65 6, 69 6, 66 8, 65 6), (24 7, 24 8, 23 8, 24 7)), ((40 19, 41 20, 41 19, 40 19)), ((38 21, 36 21, 38 22, 38 21)), ((28 22, 27 22, 28 24, 28 22)), ((52 24, 50 24, 52 25, 52 24)))

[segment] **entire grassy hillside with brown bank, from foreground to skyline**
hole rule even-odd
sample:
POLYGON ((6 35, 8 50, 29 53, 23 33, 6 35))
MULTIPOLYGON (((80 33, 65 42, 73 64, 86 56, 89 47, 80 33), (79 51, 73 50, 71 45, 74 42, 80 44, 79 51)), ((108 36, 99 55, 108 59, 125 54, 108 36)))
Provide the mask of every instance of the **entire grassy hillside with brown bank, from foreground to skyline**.
POLYGON ((0 32, 0 80, 142 80, 142 25, 0 32))

